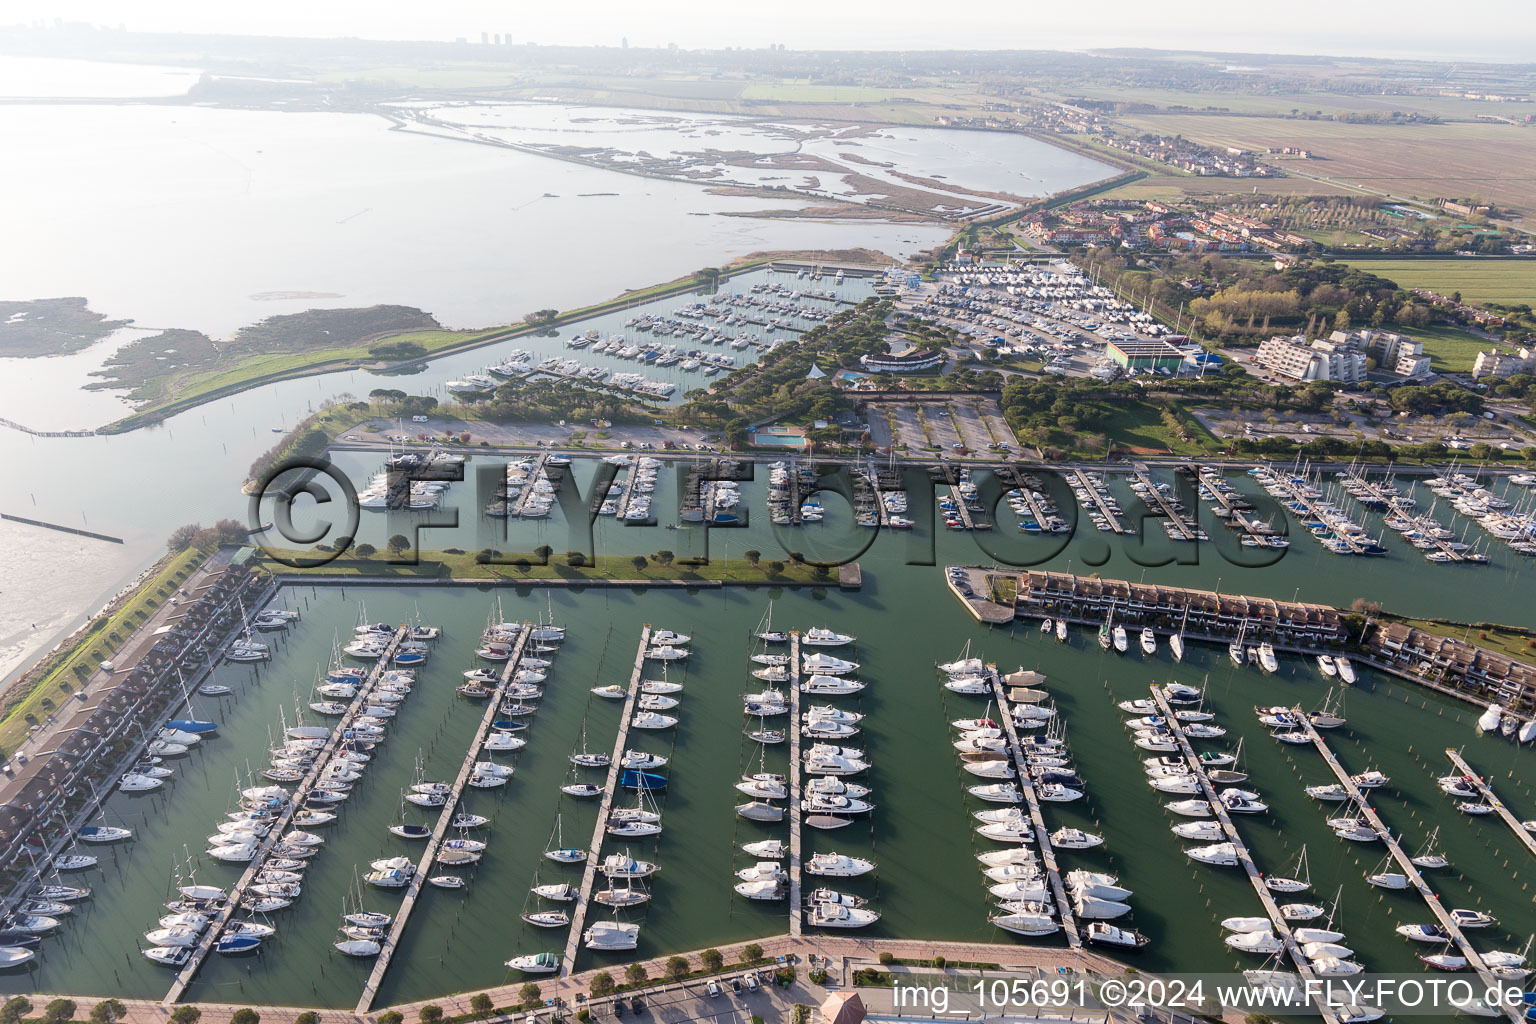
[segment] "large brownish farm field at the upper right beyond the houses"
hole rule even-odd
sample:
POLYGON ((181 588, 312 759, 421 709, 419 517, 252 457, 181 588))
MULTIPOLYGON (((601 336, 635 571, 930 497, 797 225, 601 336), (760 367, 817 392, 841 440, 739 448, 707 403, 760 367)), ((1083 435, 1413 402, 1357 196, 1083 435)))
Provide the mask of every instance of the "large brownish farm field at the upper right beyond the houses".
POLYGON ((1135 127, 1209 146, 1299 146, 1296 170, 1419 200, 1468 197, 1536 210, 1536 132, 1502 123, 1347 124, 1278 117, 1143 114, 1135 127))

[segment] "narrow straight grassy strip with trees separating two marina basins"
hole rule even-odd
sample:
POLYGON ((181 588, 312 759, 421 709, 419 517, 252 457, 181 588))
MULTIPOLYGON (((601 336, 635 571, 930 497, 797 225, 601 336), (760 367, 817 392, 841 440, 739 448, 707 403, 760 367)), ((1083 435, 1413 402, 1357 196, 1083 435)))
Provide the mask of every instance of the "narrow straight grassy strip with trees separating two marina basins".
MULTIPOLYGON (((283 551, 275 554, 286 559, 313 557, 309 551, 283 551)), ((421 551, 415 565, 392 562, 387 551, 369 557, 339 557, 335 562, 310 568, 296 570, 273 560, 266 553, 255 556, 252 568, 263 568, 270 573, 300 574, 310 577, 379 577, 379 579, 484 579, 516 583, 521 580, 567 580, 581 582, 625 582, 636 586, 671 582, 730 582, 730 583, 837 583, 837 571, 829 570, 828 576, 817 576, 816 567, 805 562, 793 562, 788 557, 777 559, 782 571, 773 570, 776 559, 763 557, 757 565, 746 559, 710 559, 708 565, 690 565, 687 559, 674 559, 670 565, 662 565, 653 556, 645 556, 644 568, 634 567, 633 554, 611 554, 598 559, 596 565, 570 565, 564 553, 551 554, 548 563, 539 565, 538 556, 531 553, 502 553, 504 562, 485 563, 476 559, 475 551, 421 551), (527 567, 518 562, 525 562, 527 567)))

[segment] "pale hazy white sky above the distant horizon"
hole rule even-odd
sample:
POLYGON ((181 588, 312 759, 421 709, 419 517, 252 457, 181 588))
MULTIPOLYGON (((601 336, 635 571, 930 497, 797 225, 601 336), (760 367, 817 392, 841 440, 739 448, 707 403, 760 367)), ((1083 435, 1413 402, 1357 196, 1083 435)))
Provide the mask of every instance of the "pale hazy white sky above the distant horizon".
POLYGON ((1528 0, 6 0, 3 21, 126 25, 135 31, 479 40, 688 48, 1086 49, 1154 46, 1247 52, 1536 58, 1528 0))

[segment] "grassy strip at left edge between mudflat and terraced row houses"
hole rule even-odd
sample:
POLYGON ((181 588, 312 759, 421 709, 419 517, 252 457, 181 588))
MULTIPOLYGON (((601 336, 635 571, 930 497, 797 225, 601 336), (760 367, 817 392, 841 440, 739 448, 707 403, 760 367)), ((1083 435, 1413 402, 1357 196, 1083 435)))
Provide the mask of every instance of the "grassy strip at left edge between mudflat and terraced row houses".
POLYGON ((69 694, 111 660, 160 603, 201 565, 207 551, 187 548, 161 559, 151 576, 115 609, 97 616, 72 642, 34 665, 0 697, 0 749, 9 752, 26 731, 46 718, 69 694))

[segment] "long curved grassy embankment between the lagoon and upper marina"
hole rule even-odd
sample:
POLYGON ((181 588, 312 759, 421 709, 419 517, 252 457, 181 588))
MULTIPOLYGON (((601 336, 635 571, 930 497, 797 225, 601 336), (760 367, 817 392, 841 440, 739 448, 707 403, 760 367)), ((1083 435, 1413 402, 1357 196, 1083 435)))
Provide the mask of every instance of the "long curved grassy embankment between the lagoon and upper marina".
MULTIPOLYGON (((770 263, 770 259, 771 258, 765 256, 759 259, 736 263, 727 267, 727 272, 740 273, 743 270, 750 270, 760 264, 770 263)), ((163 391, 160 398, 151 401, 149 407, 141 408, 132 413, 131 416, 124 416, 123 419, 118 419, 112 424, 108 424, 106 427, 101 428, 101 433, 124 433, 129 430, 135 430, 138 427, 144 427, 167 419, 169 416, 174 416, 177 413, 183 413, 189 408, 201 405, 203 402, 209 402, 217 398, 224 398, 227 395, 235 395, 238 391, 246 391, 249 388, 260 387, 263 384, 272 384, 275 381, 286 381, 298 376, 330 373, 335 370, 355 368, 364 365, 384 372, 399 370, 404 367, 416 365, 425 359, 436 359, 456 352, 467 352, 470 348, 478 348, 481 345, 487 345, 496 341, 521 338, 522 335, 530 335, 541 330, 550 330, 553 327, 561 327, 571 321, 579 321, 579 319, 587 319, 590 316, 610 313, 613 310, 624 309, 625 306, 633 302, 647 302, 651 299, 665 298, 668 295, 680 295, 693 292, 707 284, 708 281, 702 275, 691 273, 688 276, 677 278, 674 281, 667 281, 664 284, 656 284, 648 289, 625 292, 604 302, 584 306, 574 310, 565 310, 558 313, 554 319, 539 324, 515 322, 478 332, 416 330, 399 335, 386 335, 382 338, 373 338, 366 344, 356 344, 356 345, 312 348, 309 352, 298 352, 298 353, 252 355, 230 367, 220 367, 217 370, 192 373, 178 378, 175 381, 174 393, 170 393, 169 390, 163 391), (425 350, 425 355, 398 362, 381 362, 369 355, 369 348, 395 342, 415 342, 425 350)))

